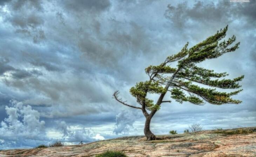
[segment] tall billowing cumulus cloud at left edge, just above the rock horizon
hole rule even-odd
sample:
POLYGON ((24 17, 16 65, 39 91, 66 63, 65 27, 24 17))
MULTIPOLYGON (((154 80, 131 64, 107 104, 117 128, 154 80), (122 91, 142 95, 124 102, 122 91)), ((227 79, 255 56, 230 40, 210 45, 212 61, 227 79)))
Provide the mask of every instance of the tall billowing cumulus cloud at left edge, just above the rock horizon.
POLYGON ((1 147, 33 147, 47 139, 45 121, 40 121, 40 113, 31 106, 12 100, 5 110, 8 117, 0 125, 1 147))

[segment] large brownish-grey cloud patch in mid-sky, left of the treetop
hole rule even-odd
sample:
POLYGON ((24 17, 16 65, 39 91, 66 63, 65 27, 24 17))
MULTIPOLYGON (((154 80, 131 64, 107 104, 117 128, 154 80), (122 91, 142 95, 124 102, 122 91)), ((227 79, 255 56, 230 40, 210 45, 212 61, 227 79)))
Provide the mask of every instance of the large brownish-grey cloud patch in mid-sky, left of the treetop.
POLYGON ((152 46, 148 45, 150 37, 136 23, 109 22, 113 28, 106 35, 97 37, 84 33, 80 37, 78 46, 84 57, 99 65, 114 67, 124 55, 132 54, 135 58, 140 53, 152 52, 152 46))

